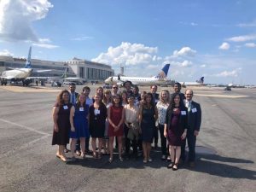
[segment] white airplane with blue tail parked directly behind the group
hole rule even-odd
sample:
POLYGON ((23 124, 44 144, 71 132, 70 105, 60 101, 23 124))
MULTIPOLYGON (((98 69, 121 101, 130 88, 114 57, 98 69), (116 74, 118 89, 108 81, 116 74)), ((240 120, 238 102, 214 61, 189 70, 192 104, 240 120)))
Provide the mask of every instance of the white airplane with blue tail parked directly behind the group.
POLYGON ((152 85, 152 84, 163 84, 166 82, 167 73, 169 70, 170 64, 166 64, 165 67, 162 68, 160 73, 151 78, 142 78, 142 77, 126 77, 126 76, 117 76, 117 77, 109 77, 105 79, 106 84, 117 84, 119 86, 123 86, 126 81, 130 81, 131 85, 152 85))

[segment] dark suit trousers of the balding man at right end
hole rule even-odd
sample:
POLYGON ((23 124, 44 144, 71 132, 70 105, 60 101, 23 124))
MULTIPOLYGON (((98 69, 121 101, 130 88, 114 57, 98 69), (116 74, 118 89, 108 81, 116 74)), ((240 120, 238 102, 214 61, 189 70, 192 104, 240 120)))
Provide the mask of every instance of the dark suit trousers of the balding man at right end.
MULTIPOLYGON (((194 136, 194 131, 188 131, 186 141, 188 143, 189 147, 189 162, 195 161, 195 143, 196 143, 196 137, 194 136)), ((183 142, 181 146, 181 159, 186 160, 186 154, 185 154, 185 148, 186 148, 186 142, 183 142)))

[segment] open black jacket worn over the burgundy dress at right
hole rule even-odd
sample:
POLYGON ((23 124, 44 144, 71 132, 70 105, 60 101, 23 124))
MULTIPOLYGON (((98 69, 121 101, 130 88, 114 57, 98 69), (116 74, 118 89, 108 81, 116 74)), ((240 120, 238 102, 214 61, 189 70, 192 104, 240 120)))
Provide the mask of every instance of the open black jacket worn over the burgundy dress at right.
MULTIPOLYGON (((179 109, 180 109, 181 113, 179 114, 178 126, 181 130, 188 129, 188 109, 185 108, 183 105, 180 105, 179 109), (186 114, 183 115, 182 111, 185 111, 186 114)), ((165 124, 167 124, 167 129, 170 128, 171 123, 172 123, 172 108, 170 105, 166 111, 166 123, 165 124)))

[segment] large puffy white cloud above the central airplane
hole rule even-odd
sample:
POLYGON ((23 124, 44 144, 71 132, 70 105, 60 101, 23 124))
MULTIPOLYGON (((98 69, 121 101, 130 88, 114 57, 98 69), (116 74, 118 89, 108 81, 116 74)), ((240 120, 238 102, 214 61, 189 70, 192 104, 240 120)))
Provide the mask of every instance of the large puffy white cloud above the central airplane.
POLYGON ((157 47, 147 47, 144 44, 122 42, 117 47, 109 47, 108 52, 101 53, 91 61, 107 63, 110 65, 149 64, 158 58, 153 55, 157 53, 157 51, 157 47))

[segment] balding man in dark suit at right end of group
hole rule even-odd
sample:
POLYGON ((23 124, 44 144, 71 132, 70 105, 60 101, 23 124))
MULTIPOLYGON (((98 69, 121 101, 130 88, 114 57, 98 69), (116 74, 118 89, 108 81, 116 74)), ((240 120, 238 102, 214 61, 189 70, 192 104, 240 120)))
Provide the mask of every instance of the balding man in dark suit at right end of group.
MULTIPOLYGON (((192 101, 193 90, 185 91, 184 105, 188 108, 188 131, 187 131, 187 142, 189 146, 189 166, 195 166, 195 142, 196 137, 199 135, 201 127, 201 107, 197 102, 192 101)), ((185 160, 185 146, 183 143, 181 159, 185 160)))

